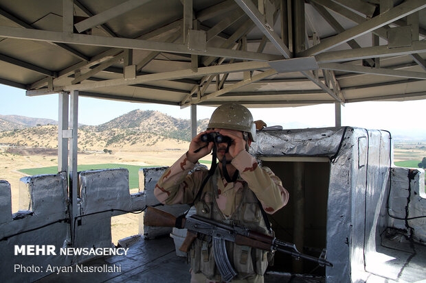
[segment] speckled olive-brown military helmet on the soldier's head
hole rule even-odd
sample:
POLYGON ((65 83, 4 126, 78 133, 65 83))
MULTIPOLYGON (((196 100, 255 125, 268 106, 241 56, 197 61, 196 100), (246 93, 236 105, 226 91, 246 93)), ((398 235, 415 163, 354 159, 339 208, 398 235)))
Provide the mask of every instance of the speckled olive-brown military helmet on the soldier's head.
POLYGON ((216 108, 207 127, 247 132, 249 138, 256 141, 253 116, 247 108, 238 103, 226 103, 216 108))

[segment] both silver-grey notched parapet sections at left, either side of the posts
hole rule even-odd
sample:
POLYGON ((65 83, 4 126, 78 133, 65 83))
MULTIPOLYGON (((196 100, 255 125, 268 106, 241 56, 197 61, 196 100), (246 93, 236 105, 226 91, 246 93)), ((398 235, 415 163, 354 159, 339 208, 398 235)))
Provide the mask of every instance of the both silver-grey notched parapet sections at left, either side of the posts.
POLYGON ((111 217, 146 204, 144 193, 130 195, 127 169, 82 171, 79 184, 78 217, 71 232, 65 174, 21 178, 20 210, 13 215, 10 184, 0 181, 0 274, 8 282, 32 282, 48 275, 49 265, 67 267, 93 258, 60 255, 62 247, 113 247, 111 217), (53 245, 56 255, 15 256, 15 245, 53 245))

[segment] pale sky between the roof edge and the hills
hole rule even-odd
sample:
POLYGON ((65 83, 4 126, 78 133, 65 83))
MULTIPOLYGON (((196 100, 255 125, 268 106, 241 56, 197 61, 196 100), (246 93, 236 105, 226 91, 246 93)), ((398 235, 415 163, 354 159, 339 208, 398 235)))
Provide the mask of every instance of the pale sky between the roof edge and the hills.
MULTIPOLYGON (((79 97, 78 123, 100 125, 135 109, 158 110, 170 116, 190 119, 190 108, 153 103, 131 103, 79 97)), ((197 119, 210 118, 215 108, 197 107, 197 119)), ((402 102, 346 103, 341 107, 341 125, 388 130, 392 136, 426 140, 426 99, 402 102)), ((334 127, 334 104, 293 108, 250 108, 255 120, 284 129, 334 127)), ((0 84, 0 114, 58 120, 58 95, 27 97, 25 90, 0 84)))

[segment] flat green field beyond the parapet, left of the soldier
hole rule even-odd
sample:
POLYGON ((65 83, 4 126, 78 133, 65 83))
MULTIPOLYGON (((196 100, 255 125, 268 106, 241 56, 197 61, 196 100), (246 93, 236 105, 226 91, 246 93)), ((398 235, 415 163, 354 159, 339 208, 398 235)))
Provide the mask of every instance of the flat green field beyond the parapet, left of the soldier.
MULTIPOLYGON (((98 170, 98 169, 113 169, 113 168, 125 168, 128 170, 128 187, 138 188, 139 187, 139 175, 138 171, 141 168, 152 167, 152 166, 136 166, 127 164, 91 164, 91 165, 78 165, 78 171, 87 170, 98 170)), ((43 168, 29 168, 19 170, 27 175, 41 175, 41 174, 56 174, 58 173, 58 167, 43 167, 43 168)))

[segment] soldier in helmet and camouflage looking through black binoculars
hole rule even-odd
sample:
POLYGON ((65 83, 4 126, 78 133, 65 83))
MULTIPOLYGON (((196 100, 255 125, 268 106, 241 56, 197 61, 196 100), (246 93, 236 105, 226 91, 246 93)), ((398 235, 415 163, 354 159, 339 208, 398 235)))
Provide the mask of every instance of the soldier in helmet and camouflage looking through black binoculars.
MULTIPOLYGON (((256 127, 247 108, 236 103, 216 108, 208 129, 192 138, 188 151, 160 177, 155 196, 163 204, 194 204, 202 217, 271 234, 265 212, 272 214, 285 206, 289 193, 269 168, 258 167, 248 153, 255 138, 256 127), (209 153, 214 159, 210 170, 194 170, 209 153)), ((263 282, 271 254, 229 244, 229 261, 238 273, 232 282, 263 282)), ((221 282, 210 238, 197 238, 188 256, 191 282, 221 282)))

